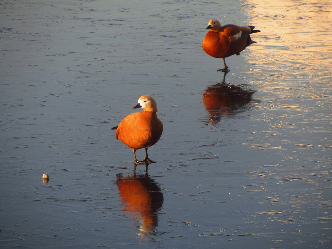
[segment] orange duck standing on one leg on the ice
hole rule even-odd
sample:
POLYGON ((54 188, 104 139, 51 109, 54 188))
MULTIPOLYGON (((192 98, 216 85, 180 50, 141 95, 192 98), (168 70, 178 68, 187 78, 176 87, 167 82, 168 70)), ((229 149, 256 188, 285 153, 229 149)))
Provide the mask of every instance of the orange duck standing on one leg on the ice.
POLYGON ((252 43, 250 34, 261 32, 254 30, 255 26, 237 26, 227 24, 221 26, 217 19, 211 19, 208 22, 206 36, 203 39, 203 50, 212 57, 222 58, 224 68, 217 71, 229 72, 229 68, 225 63, 225 58, 233 54, 239 55, 242 50, 252 43))

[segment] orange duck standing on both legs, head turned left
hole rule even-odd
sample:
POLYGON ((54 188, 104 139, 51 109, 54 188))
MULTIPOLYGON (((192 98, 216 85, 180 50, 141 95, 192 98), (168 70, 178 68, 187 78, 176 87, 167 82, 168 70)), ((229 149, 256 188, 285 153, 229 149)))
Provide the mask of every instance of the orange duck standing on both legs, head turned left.
POLYGON ((134 165, 155 163, 149 159, 147 148, 154 145, 163 132, 163 124, 157 117, 157 103, 149 95, 139 97, 138 104, 133 109, 141 108, 143 112, 132 113, 125 117, 121 123, 111 128, 116 130, 115 137, 132 149, 134 165), (136 159, 136 150, 145 148, 145 158, 136 159))

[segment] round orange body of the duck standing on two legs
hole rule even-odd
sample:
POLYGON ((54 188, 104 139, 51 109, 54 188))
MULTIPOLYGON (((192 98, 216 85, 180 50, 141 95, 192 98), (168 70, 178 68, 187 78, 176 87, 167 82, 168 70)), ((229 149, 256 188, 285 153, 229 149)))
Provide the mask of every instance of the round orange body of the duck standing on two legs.
POLYGON ((163 124, 155 112, 132 113, 117 128, 116 137, 132 149, 155 144, 163 132, 163 124))

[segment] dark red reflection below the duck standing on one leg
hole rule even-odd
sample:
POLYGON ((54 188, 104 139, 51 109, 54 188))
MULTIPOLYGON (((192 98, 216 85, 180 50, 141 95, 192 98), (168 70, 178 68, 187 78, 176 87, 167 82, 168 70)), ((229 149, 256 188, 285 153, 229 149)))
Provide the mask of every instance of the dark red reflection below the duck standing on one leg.
POLYGON ((209 86, 203 93, 203 103, 210 115, 211 125, 217 124, 222 116, 233 115, 235 110, 249 104, 256 92, 225 83, 226 74, 224 73, 221 83, 209 86))

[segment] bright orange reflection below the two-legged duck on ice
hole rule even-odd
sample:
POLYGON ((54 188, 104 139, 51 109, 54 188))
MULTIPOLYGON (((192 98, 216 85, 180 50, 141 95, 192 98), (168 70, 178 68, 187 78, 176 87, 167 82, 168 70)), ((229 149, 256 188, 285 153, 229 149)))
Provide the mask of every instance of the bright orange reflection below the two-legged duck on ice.
MULTIPOLYGON (((150 237, 158 226, 158 214, 163 204, 163 194, 146 172, 129 176, 117 174, 116 180, 126 215, 138 221, 139 236, 150 237)), ((151 238, 151 237, 150 237, 151 238)))

